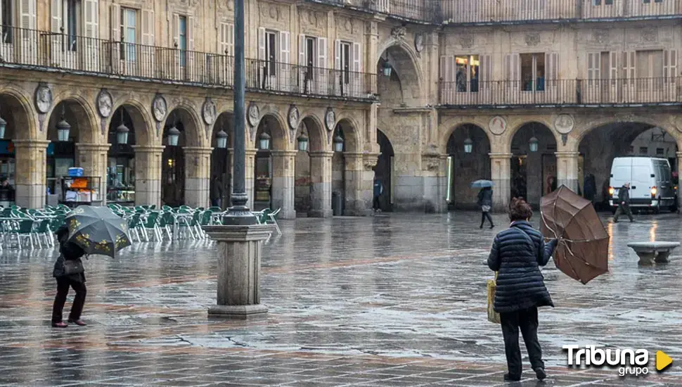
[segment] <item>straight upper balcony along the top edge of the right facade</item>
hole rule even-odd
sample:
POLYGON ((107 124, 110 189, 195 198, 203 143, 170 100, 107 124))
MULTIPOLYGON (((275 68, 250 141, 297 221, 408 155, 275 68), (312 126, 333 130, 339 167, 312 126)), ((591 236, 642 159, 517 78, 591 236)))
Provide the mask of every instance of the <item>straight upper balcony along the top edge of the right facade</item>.
POLYGON ((682 0, 442 0, 444 24, 682 18, 682 0))

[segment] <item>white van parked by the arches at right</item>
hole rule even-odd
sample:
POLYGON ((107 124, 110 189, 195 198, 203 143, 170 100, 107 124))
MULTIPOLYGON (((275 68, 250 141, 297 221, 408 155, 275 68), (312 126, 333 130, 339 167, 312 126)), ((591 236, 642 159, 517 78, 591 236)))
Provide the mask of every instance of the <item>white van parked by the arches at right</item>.
POLYGON ((675 186, 665 158, 617 157, 611 165, 610 205, 618 207, 618 191, 630 183, 630 207, 659 212, 675 205, 675 186))

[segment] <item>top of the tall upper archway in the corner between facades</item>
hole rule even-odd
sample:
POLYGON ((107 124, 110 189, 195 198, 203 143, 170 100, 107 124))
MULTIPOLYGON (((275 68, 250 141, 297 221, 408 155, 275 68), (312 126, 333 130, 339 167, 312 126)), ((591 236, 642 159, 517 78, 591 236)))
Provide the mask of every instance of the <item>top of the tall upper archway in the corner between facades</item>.
MULTIPOLYGON (((414 51, 413 46, 408 44, 408 42, 406 42, 404 39, 389 37, 378 45, 377 52, 378 56, 375 67, 381 63, 385 55, 397 56, 397 58, 394 59, 399 61, 399 63, 405 63, 406 61, 411 63, 412 71, 406 69, 404 65, 398 65, 398 63, 395 63, 395 61, 394 63, 390 64, 398 73, 398 77, 401 80, 401 90, 403 90, 403 94, 404 85, 402 83, 407 81, 409 84, 411 84, 411 87, 416 87, 416 96, 413 96, 413 99, 416 99, 417 101, 423 101, 425 94, 423 87, 424 77, 417 53, 414 51)), ((380 75, 380 72, 378 72, 378 74, 379 77, 382 76, 380 75)))

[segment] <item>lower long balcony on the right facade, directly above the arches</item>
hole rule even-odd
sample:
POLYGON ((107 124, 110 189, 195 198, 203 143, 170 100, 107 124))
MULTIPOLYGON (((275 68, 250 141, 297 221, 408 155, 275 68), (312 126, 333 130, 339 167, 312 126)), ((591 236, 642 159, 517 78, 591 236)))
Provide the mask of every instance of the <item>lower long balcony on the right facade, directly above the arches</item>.
POLYGON ((614 80, 440 82, 443 108, 682 106, 682 77, 614 80))

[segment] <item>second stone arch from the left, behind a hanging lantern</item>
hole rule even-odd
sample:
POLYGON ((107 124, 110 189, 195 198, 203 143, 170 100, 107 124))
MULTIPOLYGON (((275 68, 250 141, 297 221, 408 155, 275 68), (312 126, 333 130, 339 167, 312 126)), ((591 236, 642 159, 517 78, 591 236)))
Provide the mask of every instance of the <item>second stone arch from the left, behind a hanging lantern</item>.
POLYGON ((108 144, 107 131, 102 130, 101 120, 91 103, 79 94, 72 94, 71 91, 63 91, 53 99, 52 106, 46 114, 49 117, 45 131, 48 140, 57 139, 55 126, 63 111, 65 111, 67 122, 71 125, 70 136, 73 137, 74 132, 78 134, 76 142, 108 144), (64 105, 65 110, 63 110, 64 105))

